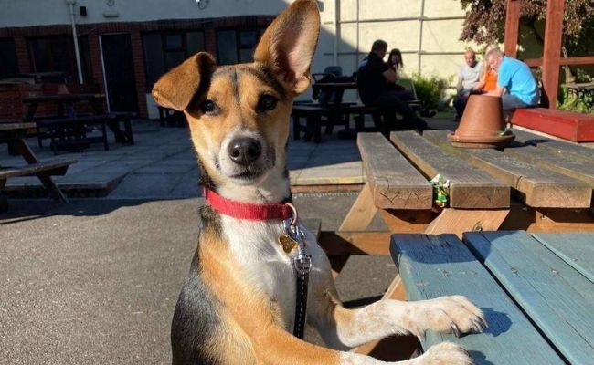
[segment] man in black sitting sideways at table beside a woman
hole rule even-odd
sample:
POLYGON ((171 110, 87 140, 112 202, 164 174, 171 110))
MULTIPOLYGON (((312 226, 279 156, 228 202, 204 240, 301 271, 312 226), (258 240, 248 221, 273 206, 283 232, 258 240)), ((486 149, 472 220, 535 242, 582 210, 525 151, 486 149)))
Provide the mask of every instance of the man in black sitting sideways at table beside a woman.
POLYGON ((369 55, 359 65, 356 82, 361 101, 365 105, 385 109, 382 113, 384 125, 378 126, 385 136, 389 130, 426 130, 425 120, 420 119, 394 89, 397 78, 383 60, 386 53, 387 43, 378 39, 373 43, 369 55), (396 113, 403 119, 398 121, 396 113))

